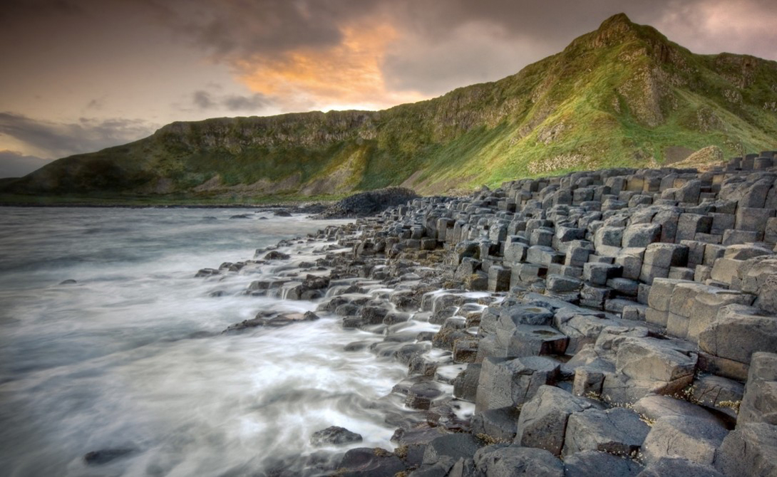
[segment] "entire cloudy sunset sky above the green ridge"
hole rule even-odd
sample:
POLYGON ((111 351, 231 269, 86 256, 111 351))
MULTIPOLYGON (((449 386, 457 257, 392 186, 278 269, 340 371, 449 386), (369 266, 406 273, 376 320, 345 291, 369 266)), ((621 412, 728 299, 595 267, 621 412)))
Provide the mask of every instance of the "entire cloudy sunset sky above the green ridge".
POLYGON ((695 53, 777 60, 775 0, 4 0, 0 178, 172 121, 433 98, 618 12, 695 53))

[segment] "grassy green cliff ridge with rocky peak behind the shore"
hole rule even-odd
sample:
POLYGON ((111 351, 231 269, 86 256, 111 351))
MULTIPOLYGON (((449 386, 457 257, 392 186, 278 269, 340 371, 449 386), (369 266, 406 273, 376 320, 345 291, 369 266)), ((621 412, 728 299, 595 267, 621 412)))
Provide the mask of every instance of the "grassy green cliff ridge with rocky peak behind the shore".
POLYGON ((775 143, 777 62, 692 54, 620 14, 500 81, 380 112, 172 123, 135 143, 55 161, 5 192, 447 192, 775 143))

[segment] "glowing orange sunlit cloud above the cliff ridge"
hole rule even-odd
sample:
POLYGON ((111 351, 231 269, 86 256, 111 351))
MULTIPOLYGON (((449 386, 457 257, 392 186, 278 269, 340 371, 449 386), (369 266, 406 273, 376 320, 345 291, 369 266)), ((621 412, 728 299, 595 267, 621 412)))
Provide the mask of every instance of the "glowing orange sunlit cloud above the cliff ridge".
POLYGON ((286 109, 382 109, 427 99, 419 92, 386 88, 381 63, 396 38, 389 25, 347 26, 343 40, 325 50, 302 48, 282 57, 238 64, 240 81, 252 91, 279 99, 286 109))

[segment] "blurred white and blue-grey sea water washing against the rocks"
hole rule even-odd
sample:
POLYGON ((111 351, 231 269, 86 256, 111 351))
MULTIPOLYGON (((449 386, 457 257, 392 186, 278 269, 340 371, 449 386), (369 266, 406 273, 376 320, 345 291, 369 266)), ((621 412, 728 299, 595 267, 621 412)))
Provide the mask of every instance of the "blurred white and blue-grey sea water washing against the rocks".
MULTIPOLYGON (((332 223, 342 222, 0 208, 0 473, 262 475, 315 457, 309 437, 331 425, 362 434, 359 446, 392 448, 385 415, 402 409, 384 396, 406 368, 343 351, 379 337, 332 316, 221 334, 259 311, 315 303, 242 293, 282 266, 194 278, 332 223), (106 449, 120 457, 86 463, 106 449)), ((315 261, 317 247, 299 245, 292 260, 315 261)))

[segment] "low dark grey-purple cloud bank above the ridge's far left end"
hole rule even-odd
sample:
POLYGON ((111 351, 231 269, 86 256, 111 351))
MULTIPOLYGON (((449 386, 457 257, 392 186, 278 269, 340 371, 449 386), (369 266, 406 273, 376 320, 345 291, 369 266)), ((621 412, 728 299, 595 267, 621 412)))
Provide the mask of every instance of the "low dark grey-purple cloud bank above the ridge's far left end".
POLYGON ((23 145, 25 154, 50 158, 138 140, 157 127, 141 119, 80 118, 78 123, 54 123, 0 112, 0 140, 9 137, 23 145))

